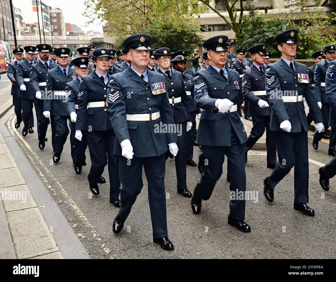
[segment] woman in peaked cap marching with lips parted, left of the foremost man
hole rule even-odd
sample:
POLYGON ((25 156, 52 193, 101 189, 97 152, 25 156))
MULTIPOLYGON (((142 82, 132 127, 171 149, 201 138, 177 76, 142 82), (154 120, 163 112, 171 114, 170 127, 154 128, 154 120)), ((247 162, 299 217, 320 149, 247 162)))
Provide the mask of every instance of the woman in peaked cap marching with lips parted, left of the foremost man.
POLYGON ((104 167, 108 165, 110 178, 110 203, 120 207, 120 179, 118 158, 113 153, 116 135, 112 129, 107 109, 107 84, 110 76, 107 68, 110 61, 109 51, 97 48, 92 53, 95 71, 82 77, 79 85, 79 101, 76 119, 75 138, 82 140, 85 132, 89 146, 91 168, 87 176, 89 187, 94 195, 99 194, 98 183, 104 167))

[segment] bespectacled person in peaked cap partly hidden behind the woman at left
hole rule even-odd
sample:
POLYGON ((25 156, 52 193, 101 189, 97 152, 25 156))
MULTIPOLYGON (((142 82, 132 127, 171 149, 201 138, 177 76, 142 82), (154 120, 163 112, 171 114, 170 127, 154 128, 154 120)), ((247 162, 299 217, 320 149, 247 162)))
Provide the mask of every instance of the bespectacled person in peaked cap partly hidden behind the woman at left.
POLYGON ((72 60, 73 65, 75 66, 74 70, 77 73, 77 78, 70 82, 66 83, 67 91, 67 101, 66 108, 68 114, 70 115, 71 123, 70 129, 72 138, 74 142, 74 154, 76 156, 74 168, 77 174, 82 172, 82 166, 86 165, 85 159, 85 150, 87 147, 87 140, 85 133, 82 134, 82 140, 79 141, 75 138, 76 135, 76 120, 78 112, 78 103, 79 103, 79 84, 83 76, 88 75, 89 73, 89 60, 88 57, 75 58, 72 60))

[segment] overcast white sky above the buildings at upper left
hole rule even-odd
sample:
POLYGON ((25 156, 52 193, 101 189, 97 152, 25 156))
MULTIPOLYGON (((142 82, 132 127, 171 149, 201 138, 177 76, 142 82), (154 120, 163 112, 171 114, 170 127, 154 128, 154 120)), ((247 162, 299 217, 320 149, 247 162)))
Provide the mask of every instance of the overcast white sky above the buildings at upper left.
MULTIPOLYGON (((84 6, 84 0, 42 0, 42 2, 52 8, 61 9, 65 22, 74 23, 81 27, 84 31, 94 30, 102 32, 102 26, 98 24, 84 27, 84 23, 87 21, 82 15, 84 9, 86 9, 84 6)), ((13 5, 19 7, 21 10, 27 7, 26 5, 32 7, 31 0, 13 0, 13 5)))

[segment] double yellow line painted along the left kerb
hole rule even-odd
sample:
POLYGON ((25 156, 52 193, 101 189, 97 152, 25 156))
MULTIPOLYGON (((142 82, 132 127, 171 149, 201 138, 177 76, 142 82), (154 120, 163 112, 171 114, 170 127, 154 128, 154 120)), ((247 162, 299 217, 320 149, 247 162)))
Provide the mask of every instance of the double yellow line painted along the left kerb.
MULTIPOLYGON (((57 192, 60 192, 66 199, 67 202, 70 204, 70 206, 72 207, 73 211, 75 212, 75 214, 77 216, 79 216, 80 220, 84 222, 85 226, 89 229, 90 231, 90 235, 92 236, 92 238, 86 238, 86 239, 93 239, 93 240, 97 240, 100 237, 100 235, 98 235, 97 231, 94 230, 94 227, 90 224, 90 222, 88 221, 88 219, 85 217, 85 215, 83 214, 83 212, 80 210, 80 208, 76 205, 76 203, 72 200, 72 198, 69 196, 68 192, 64 190, 64 188, 62 187, 62 185, 55 179, 55 177, 53 176, 53 174, 51 173, 51 171, 46 167, 46 165, 43 163, 43 161, 40 159, 40 157, 34 152, 34 150, 30 147, 30 145, 26 142, 26 140, 17 132, 16 128, 15 128, 15 120, 16 117, 15 114, 13 114, 9 120, 7 121, 7 128, 8 131, 15 136, 14 132, 16 133, 16 135, 20 138, 20 140, 18 140, 19 145, 21 146, 22 149, 25 150, 24 146, 27 147, 28 151, 26 151, 26 157, 29 159, 29 161, 31 162, 31 164, 33 165, 33 167, 35 168, 35 170, 38 172, 38 174, 40 175, 41 179, 44 182, 44 185, 46 187, 48 187, 52 192, 53 195, 57 196, 57 192), (36 161, 35 161, 36 160, 36 161), (42 169, 40 169, 40 167, 42 169), (47 178, 47 177, 48 178, 47 178), (49 180, 53 180, 56 182, 56 186, 55 188, 53 188, 53 184, 49 181, 49 180)), ((59 198, 57 199, 59 200, 59 198)), ((78 234, 78 235, 82 235, 82 234, 78 234)), ((85 236, 81 236, 81 238, 85 238, 85 236)), ((101 240, 101 239, 99 239, 101 240)), ((103 247, 101 247, 103 248, 103 247)), ((106 252, 107 254, 109 254, 111 252, 111 250, 109 248, 106 247, 106 245, 104 245, 103 248, 104 252, 106 252)), ((111 258, 111 256, 110 256, 111 258)))

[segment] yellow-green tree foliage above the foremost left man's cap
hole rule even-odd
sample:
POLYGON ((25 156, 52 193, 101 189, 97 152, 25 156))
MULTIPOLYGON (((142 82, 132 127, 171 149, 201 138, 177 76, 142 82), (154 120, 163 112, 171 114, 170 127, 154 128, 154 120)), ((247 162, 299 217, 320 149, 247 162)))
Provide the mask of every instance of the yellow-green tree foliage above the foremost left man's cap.
POLYGON ((204 7, 197 0, 85 0, 84 15, 92 23, 99 20, 111 26, 109 34, 116 37, 116 48, 135 33, 150 34, 152 46, 168 47, 172 51, 191 51, 201 43, 200 27, 195 15, 204 7))

